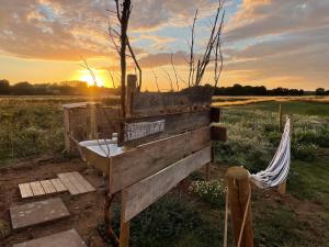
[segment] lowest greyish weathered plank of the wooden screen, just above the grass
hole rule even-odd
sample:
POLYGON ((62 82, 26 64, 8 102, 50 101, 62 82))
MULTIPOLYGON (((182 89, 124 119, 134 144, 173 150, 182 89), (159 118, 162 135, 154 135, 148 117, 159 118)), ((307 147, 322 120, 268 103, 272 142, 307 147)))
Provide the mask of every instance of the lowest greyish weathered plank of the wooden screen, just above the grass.
POLYGON ((123 221, 128 222, 160 197, 170 191, 191 172, 212 160, 211 146, 181 159, 159 172, 124 189, 123 221))

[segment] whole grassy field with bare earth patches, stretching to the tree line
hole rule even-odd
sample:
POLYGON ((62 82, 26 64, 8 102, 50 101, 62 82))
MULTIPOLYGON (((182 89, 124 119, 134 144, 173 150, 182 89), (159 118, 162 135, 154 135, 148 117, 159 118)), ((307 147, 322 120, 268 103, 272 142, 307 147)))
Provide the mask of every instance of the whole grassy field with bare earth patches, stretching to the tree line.
MULTIPOLYGON (((275 190, 261 191, 254 188, 252 211, 256 246, 326 247, 329 243, 328 98, 295 99, 271 99, 259 103, 247 103, 245 98, 215 99, 215 104, 226 105, 223 106, 220 125, 228 128, 228 142, 216 144, 217 162, 212 167, 213 181, 205 182, 204 173, 195 172, 134 218, 131 245, 222 246, 225 203, 223 176, 231 165, 245 166, 250 172, 268 166, 281 137, 277 127, 277 101, 281 101, 283 114, 288 114, 293 120, 293 160, 287 194, 280 195, 275 190)), ((60 108, 65 102, 80 100, 0 100, 0 160, 3 167, 0 171, 2 178, 10 179, 0 180, 3 198, 0 210, 4 212, 0 214, 0 239, 2 236, 3 246, 31 237, 26 233, 10 233, 5 213, 10 203, 19 201, 16 184, 23 180, 24 175, 32 178, 37 172, 37 176, 47 178, 58 169, 76 168, 82 171, 83 166, 79 159, 71 159, 63 153, 60 108), (24 166, 11 168, 18 164, 24 166), (34 166, 37 171, 34 171, 34 166)), ((88 176, 93 179, 93 175, 88 176)), ((102 243, 99 233, 103 233, 103 225, 101 213, 98 212, 101 199, 102 195, 98 193, 80 199, 64 197, 73 211, 71 224, 78 228, 88 246, 100 246, 102 243)), ((115 212, 114 224, 118 226, 120 215, 115 212)), ((65 222, 56 223, 56 228, 65 227, 65 222)), ((42 231, 49 232, 49 226, 45 229, 36 228, 38 234, 42 231)), ((33 236, 37 236, 37 233, 33 236)))

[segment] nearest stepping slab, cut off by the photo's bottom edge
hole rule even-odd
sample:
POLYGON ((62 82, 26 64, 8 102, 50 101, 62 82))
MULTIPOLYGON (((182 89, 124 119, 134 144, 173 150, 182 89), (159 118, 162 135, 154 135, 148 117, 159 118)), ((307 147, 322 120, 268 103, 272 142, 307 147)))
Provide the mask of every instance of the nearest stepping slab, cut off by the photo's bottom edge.
POLYGON ((87 247, 76 229, 13 245, 13 247, 87 247))

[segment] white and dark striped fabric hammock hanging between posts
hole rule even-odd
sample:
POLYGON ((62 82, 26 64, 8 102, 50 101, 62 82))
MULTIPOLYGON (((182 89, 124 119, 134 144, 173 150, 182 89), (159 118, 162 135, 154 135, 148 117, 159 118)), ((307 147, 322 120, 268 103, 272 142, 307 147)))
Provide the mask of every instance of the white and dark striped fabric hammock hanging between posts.
POLYGON ((291 166, 291 120, 287 119, 280 146, 270 166, 256 175, 250 175, 250 180, 259 188, 266 189, 282 183, 291 166))

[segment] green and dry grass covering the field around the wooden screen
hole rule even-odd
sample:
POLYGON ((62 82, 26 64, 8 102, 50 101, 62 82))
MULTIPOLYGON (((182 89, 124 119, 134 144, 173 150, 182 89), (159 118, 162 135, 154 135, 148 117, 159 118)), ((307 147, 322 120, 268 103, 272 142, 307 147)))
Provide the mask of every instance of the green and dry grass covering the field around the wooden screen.
MULTIPOLYGON (((60 155, 64 149, 61 104, 79 100, 1 99, 1 164, 47 153, 60 155)), ((326 224, 329 221, 329 108, 328 104, 306 100, 281 103, 283 113, 293 115, 293 161, 287 192, 298 204, 292 204, 284 198, 259 197, 259 193, 265 192, 254 192, 256 246, 325 247, 329 242, 329 225, 326 224), (304 212, 303 206, 308 204, 311 207, 304 212)), ((228 128, 228 142, 216 144, 219 164, 241 165, 251 172, 264 169, 281 137, 277 110, 279 102, 275 101, 224 108, 220 125, 228 128)), ((218 176, 217 179, 220 178, 218 176)), ((194 180, 202 180, 202 176, 194 173, 189 181, 194 180)), ((163 197, 133 220, 132 246, 220 246, 224 197, 217 199, 217 188, 205 187, 196 193, 171 192, 163 197), (214 192, 214 195, 208 192, 214 192)), ((116 211, 116 227, 118 221, 116 211)), ((0 222, 0 232, 2 228, 0 222)))

